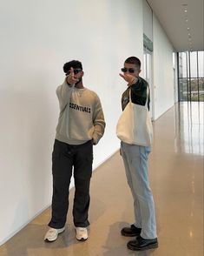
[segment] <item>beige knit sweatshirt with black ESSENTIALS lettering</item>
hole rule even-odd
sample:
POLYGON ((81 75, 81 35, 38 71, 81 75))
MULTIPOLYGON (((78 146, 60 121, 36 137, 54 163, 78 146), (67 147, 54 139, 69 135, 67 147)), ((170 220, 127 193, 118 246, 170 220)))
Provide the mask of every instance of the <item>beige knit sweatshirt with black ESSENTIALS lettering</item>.
POLYGON ((56 89, 60 115, 56 139, 80 145, 93 139, 96 145, 105 129, 102 104, 97 94, 87 88, 69 86, 66 80, 56 89))

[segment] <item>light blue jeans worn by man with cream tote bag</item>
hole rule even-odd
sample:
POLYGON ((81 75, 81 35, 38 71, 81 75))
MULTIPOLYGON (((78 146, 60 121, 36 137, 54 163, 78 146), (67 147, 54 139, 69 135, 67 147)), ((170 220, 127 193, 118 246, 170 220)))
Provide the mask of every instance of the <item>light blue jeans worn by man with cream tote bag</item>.
POLYGON ((121 144, 128 185, 134 199, 135 226, 141 228, 143 239, 155 239, 155 203, 148 181, 147 146, 121 144))

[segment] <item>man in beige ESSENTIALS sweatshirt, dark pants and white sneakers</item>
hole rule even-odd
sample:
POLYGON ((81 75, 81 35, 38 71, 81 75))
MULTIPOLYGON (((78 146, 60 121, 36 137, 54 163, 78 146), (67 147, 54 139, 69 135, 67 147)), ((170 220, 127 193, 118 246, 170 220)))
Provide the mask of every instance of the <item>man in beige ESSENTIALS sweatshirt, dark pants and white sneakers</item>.
POLYGON ((63 65, 63 71, 66 78, 56 89, 60 114, 52 153, 52 216, 44 237, 47 242, 55 241, 65 229, 72 170, 76 187, 73 205, 76 239, 88 239, 93 145, 99 142, 105 129, 100 99, 83 86, 82 63, 72 60, 63 65))

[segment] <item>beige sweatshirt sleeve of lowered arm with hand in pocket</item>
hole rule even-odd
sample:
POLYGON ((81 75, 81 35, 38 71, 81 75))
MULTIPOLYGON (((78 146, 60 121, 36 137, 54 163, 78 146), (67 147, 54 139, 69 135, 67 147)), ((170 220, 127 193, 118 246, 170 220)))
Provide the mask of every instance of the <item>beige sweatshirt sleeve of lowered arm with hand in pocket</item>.
POLYGON ((98 96, 95 97, 95 107, 93 111, 93 124, 94 124, 94 133, 93 140, 94 145, 96 145, 99 140, 102 138, 102 135, 105 131, 105 120, 102 111, 102 104, 98 96))

